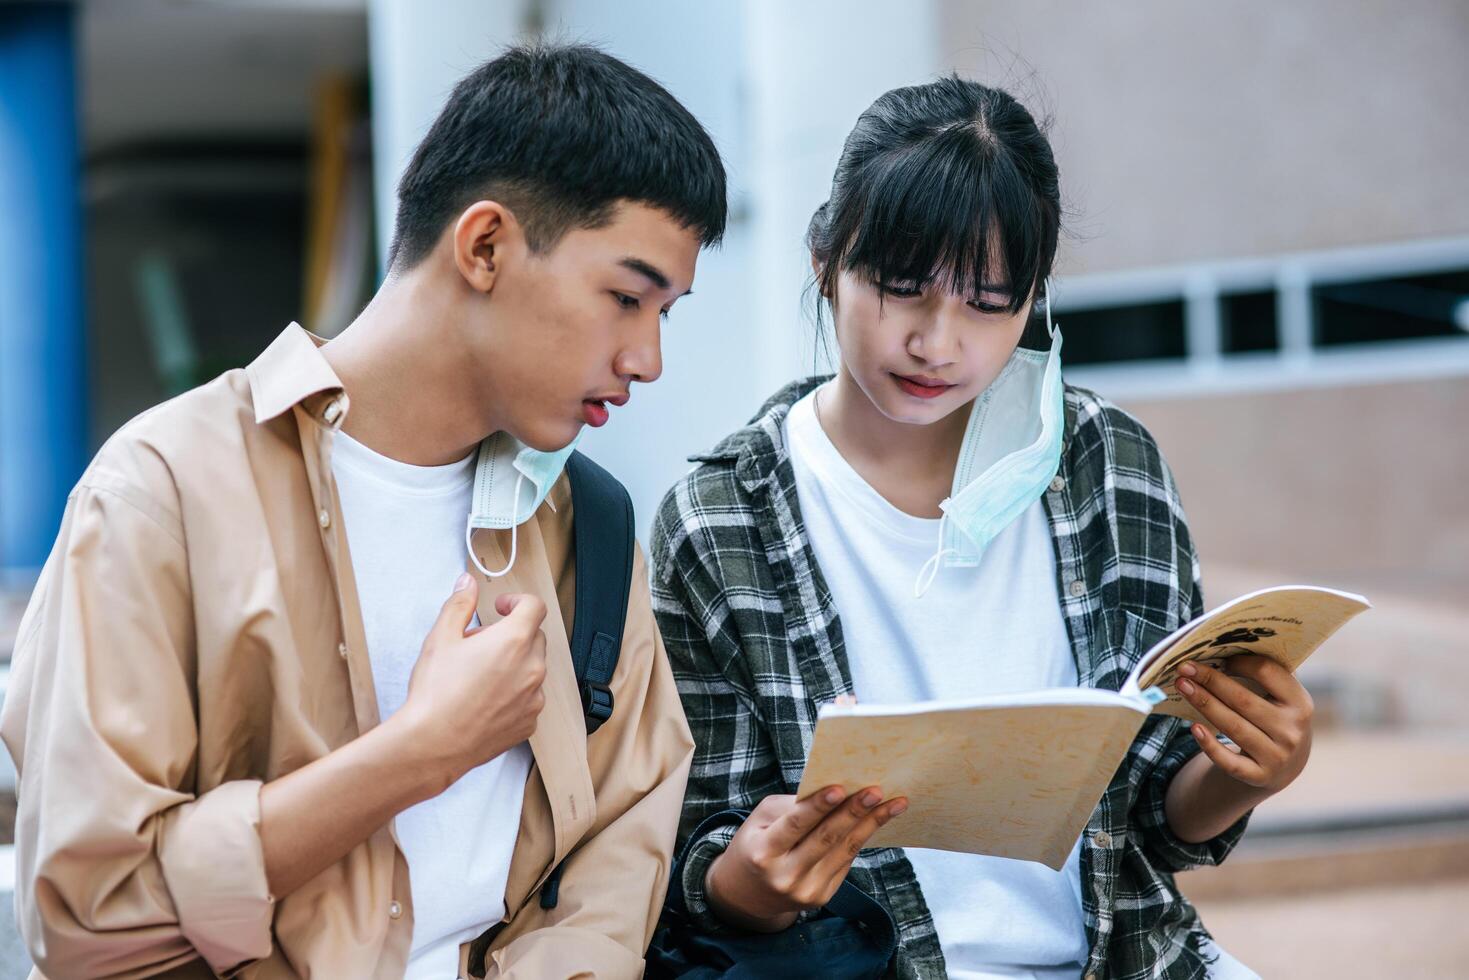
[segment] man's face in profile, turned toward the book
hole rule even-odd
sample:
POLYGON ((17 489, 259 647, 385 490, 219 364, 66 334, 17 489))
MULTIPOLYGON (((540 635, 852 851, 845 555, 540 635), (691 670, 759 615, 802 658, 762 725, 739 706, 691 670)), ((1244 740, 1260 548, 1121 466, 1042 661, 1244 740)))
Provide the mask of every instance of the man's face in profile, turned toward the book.
POLYGON ((605 425, 633 382, 663 373, 661 320, 693 284, 698 234, 661 210, 621 203, 601 228, 551 248, 502 251, 494 331, 469 323, 472 357, 501 426, 541 451, 605 425))

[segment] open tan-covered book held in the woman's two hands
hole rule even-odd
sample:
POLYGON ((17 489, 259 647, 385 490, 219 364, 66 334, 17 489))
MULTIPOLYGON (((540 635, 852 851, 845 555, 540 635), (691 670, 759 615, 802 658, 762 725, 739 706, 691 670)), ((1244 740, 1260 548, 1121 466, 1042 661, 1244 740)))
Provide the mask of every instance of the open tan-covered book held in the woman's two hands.
POLYGON ((908 796, 908 811, 867 846, 992 854, 1059 870, 1147 716, 1197 717, 1174 691, 1180 664, 1228 673, 1230 657, 1262 654, 1294 671, 1366 608, 1360 595, 1313 586, 1252 592, 1162 639, 1118 692, 823 705, 796 795, 881 786, 887 798, 908 796))

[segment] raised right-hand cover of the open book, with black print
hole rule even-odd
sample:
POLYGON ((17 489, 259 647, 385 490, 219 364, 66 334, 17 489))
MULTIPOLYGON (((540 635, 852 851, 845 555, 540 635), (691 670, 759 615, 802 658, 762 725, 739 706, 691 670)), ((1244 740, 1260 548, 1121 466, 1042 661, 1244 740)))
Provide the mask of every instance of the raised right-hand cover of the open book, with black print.
MULTIPOLYGON (((1158 686, 1155 711, 1205 721, 1177 689, 1178 667, 1196 661, 1228 673, 1230 657, 1259 654, 1291 673, 1353 616, 1371 608, 1360 595, 1315 586, 1278 586, 1250 592, 1206 613, 1158 644, 1133 671, 1130 685, 1158 686)), ((1247 677, 1234 677, 1256 693, 1247 677)))

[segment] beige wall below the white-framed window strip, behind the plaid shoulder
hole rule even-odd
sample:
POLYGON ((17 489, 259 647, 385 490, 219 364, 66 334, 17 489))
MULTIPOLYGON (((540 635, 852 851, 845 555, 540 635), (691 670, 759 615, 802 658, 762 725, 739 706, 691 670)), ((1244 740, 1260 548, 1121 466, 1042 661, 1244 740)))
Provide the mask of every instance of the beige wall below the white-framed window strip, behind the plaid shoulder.
POLYGON ((1469 378, 1124 404, 1174 467, 1206 576, 1469 613, 1469 378))

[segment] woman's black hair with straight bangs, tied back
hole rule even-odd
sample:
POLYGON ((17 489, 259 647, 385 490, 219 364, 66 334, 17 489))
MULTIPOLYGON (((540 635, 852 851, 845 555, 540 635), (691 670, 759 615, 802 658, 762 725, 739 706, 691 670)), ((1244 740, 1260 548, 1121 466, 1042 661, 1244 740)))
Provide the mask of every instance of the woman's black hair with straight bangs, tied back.
POLYGON ((978 295, 997 269, 1018 313, 1050 275, 1059 228, 1056 160, 1030 112, 949 75, 895 88, 858 118, 806 245, 827 298, 843 270, 978 295))

